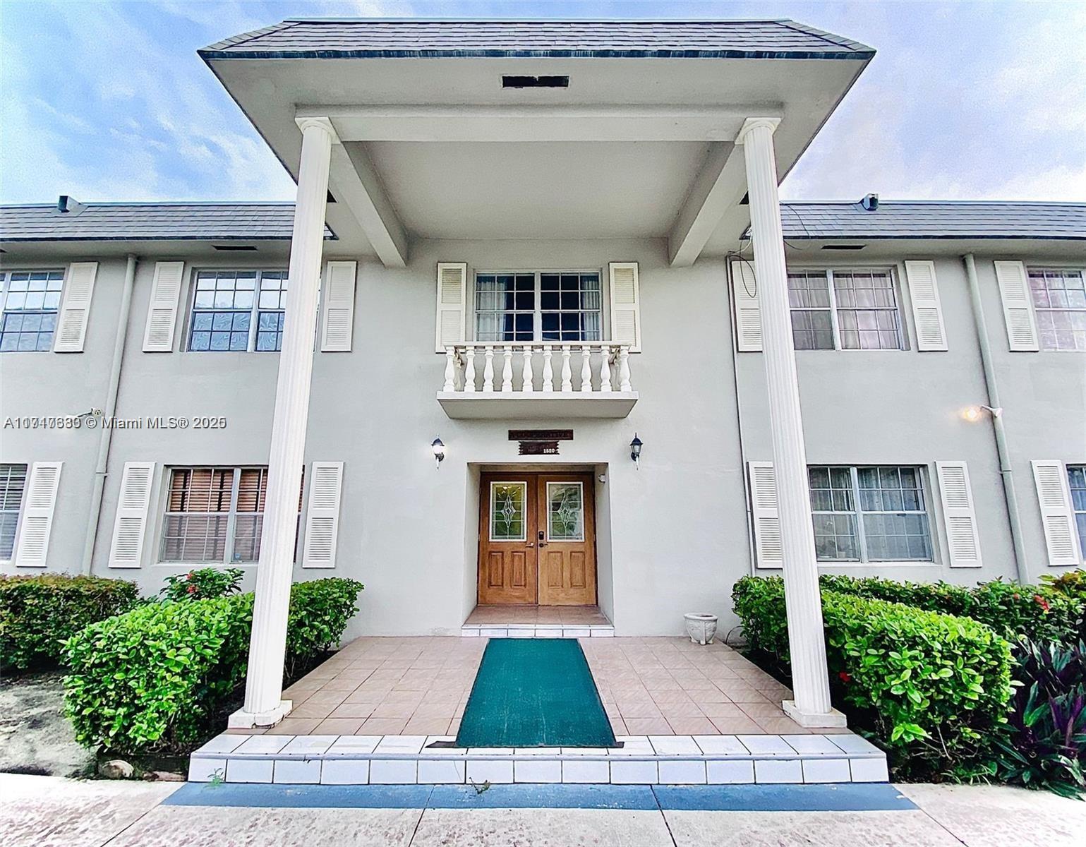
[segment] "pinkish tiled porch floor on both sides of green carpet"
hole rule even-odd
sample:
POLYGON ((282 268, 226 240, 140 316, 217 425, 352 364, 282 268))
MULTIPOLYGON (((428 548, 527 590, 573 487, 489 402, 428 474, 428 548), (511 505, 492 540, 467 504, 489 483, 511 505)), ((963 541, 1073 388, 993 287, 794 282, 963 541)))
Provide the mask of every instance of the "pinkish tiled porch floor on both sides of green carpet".
MULTIPOLYGON (((580 644, 616 735, 807 732, 781 711, 787 688, 723 644, 703 647, 684 637, 580 644)), ((456 735, 485 645, 487 639, 358 639, 285 692, 294 709, 266 732, 456 735)))

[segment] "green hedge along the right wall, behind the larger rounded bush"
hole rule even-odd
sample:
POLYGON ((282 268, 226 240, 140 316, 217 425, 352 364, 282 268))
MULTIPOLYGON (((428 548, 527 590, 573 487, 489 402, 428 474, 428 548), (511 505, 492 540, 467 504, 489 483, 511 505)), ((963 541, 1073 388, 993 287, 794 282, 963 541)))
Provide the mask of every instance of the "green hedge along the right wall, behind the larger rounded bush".
POLYGON ((841 574, 822 574, 820 582, 823 591, 972 618, 1011 641, 1025 635, 1032 641, 1073 644, 1082 632, 1083 601, 1047 585, 1015 585, 994 580, 965 587, 947 582, 898 582, 841 574))

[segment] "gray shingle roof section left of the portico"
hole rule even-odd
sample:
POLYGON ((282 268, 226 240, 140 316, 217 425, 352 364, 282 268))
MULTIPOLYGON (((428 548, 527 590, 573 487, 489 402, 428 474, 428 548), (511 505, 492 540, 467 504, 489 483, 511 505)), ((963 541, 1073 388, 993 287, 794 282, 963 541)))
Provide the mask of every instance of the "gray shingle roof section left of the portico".
MULTIPOLYGON (((293 203, 87 203, 0 206, 0 241, 289 240, 293 203)), ((334 238, 325 228, 325 238, 334 238)))

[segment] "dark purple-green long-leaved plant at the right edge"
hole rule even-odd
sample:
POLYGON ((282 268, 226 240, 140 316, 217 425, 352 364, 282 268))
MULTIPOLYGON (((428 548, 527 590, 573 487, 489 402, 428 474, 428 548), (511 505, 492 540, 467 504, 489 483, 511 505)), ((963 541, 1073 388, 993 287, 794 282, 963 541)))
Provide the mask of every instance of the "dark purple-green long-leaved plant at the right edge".
POLYGON ((1086 791, 1086 644, 1022 640, 1014 658, 1013 734, 998 741, 999 776, 1075 796, 1086 791))

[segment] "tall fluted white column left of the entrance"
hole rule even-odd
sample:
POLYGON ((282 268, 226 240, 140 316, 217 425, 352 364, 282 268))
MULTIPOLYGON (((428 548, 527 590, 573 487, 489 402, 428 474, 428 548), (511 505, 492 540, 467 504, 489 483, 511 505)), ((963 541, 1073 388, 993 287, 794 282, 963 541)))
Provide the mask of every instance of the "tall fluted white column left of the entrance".
POLYGON ((298 125, 302 130, 302 157, 290 242, 290 303, 279 353, 245 700, 242 708, 230 716, 231 728, 270 726, 291 708, 290 700, 282 699, 287 614, 294 568, 298 492, 302 484, 310 413, 328 165, 332 143, 339 142, 327 118, 302 118, 298 125))

